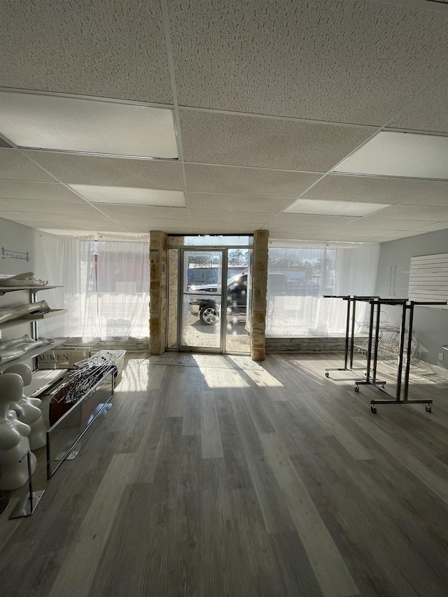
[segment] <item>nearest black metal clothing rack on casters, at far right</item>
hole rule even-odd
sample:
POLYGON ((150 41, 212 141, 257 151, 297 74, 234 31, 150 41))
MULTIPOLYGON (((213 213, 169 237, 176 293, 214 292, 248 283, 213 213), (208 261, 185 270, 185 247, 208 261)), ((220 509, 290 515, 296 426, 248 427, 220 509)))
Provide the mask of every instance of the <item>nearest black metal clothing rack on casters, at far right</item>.
MULTIPOLYGON (((372 298, 370 301, 370 329, 369 329, 369 342, 367 350, 367 375, 366 379, 355 381, 355 391, 359 391, 361 385, 372 385, 379 390, 386 392, 384 381, 377 380, 377 362, 378 362, 378 342, 379 342, 379 320, 381 315, 381 305, 394 305, 402 308, 401 325, 400 325, 400 349, 398 353, 398 370, 397 370, 397 386, 395 389, 395 397, 393 400, 371 400, 370 409, 373 413, 377 412, 376 404, 393 405, 393 404, 425 404, 426 411, 431 411, 431 404, 433 400, 409 400, 407 398, 409 391, 409 370, 411 366, 411 353, 412 353, 412 325, 414 323, 414 307, 423 306, 430 307, 432 305, 445 305, 448 301, 413 301, 408 299, 381 299, 379 297, 372 298), (376 316, 373 317, 374 311, 376 310, 376 316), (373 319, 375 319, 374 333, 373 333, 373 319), (407 320, 407 324, 406 324, 407 320), (406 333, 407 325, 407 333, 406 333), (372 351, 373 344, 373 351, 372 351), (370 379, 370 359, 373 354, 373 365, 372 365, 372 379, 370 379), (403 377, 403 365, 405 365, 404 380, 403 377), (402 392, 402 386, 403 392, 402 392)), ((391 394, 389 394, 391 395, 391 394)))

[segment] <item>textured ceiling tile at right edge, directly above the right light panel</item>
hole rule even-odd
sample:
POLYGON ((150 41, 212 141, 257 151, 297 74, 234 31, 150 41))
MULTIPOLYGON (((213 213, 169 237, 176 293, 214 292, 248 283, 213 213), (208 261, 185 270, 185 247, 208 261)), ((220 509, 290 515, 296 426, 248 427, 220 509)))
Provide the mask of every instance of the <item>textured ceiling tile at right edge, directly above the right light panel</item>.
MULTIPOLYGON (((448 12, 448 10, 447 10, 448 12)), ((416 131, 448 132, 448 80, 413 101, 388 127, 416 131)))

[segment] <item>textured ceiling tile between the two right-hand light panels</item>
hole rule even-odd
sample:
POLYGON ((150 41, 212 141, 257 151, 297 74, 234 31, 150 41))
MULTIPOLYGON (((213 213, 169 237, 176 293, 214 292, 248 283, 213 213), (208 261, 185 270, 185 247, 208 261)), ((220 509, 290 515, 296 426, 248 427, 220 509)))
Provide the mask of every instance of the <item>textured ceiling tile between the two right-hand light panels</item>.
POLYGON ((380 176, 342 176, 328 174, 304 194, 309 199, 338 199, 369 203, 401 203, 411 197, 424 196, 446 185, 439 181, 380 176))

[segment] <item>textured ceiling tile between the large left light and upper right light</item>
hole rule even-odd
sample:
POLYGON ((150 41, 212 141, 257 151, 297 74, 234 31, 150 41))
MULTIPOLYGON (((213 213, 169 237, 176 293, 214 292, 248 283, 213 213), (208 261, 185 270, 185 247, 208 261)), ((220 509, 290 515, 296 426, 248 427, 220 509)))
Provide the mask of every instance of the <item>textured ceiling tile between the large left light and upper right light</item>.
POLYGON ((366 127, 181 111, 187 162, 328 171, 372 132, 366 127))

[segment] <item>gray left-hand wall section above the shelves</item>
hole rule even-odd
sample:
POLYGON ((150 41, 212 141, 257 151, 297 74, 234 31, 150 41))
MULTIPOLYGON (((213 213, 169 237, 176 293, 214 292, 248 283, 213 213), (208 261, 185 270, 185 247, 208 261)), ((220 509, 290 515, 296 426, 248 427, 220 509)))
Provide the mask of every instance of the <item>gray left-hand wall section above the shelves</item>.
POLYGON ((0 218, 0 251, 4 247, 8 251, 20 251, 20 253, 29 253, 30 260, 13 259, 7 257, 3 259, 0 254, 0 274, 25 274, 25 272, 34 272, 36 263, 36 254, 34 251, 34 230, 28 226, 23 226, 0 218))

